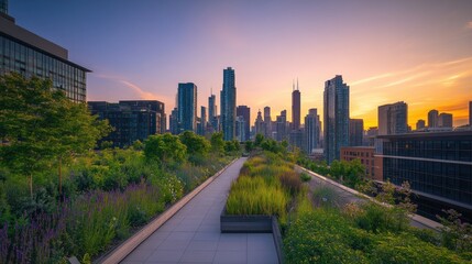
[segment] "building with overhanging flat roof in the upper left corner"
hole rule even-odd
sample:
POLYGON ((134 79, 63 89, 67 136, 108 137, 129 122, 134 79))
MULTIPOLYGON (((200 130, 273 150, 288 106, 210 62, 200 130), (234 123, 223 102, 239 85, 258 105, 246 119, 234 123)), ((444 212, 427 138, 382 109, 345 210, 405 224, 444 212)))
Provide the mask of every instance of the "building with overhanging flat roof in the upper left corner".
POLYGON ((75 102, 86 102, 89 69, 68 61, 68 52, 19 25, 8 15, 8 2, 0 6, 0 75, 19 73, 26 78, 51 79, 75 102))

